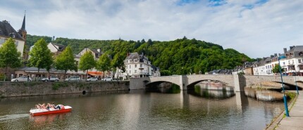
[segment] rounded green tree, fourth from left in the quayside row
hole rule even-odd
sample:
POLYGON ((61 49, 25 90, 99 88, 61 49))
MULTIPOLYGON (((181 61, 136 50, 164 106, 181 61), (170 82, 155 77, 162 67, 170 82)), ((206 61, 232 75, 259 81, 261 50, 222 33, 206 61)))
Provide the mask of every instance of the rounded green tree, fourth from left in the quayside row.
MULTIPOLYGON (((94 60, 94 56, 92 56, 92 52, 87 51, 80 57, 80 62, 79 62, 80 70, 87 71, 94 68, 95 66, 96 66, 96 61, 94 60)), ((85 79, 87 79, 87 72, 85 79)))

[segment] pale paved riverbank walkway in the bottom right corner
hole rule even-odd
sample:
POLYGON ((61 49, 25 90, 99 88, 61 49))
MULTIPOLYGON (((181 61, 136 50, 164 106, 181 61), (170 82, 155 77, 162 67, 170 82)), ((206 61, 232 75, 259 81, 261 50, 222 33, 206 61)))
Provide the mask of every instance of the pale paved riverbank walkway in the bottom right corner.
MULTIPOLYGON (((297 93, 297 91, 292 91, 297 93)), ((302 93, 303 91, 299 91, 302 93)), ((303 124, 303 95, 297 95, 290 103, 288 103, 288 111, 290 117, 285 117, 285 111, 276 117, 274 121, 266 127, 268 130, 272 129, 302 129, 303 124)))

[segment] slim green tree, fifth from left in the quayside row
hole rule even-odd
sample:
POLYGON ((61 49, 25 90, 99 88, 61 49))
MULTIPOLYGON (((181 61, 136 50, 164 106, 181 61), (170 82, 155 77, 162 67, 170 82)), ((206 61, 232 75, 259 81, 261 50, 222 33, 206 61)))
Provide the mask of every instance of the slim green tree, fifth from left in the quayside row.
POLYGON ((96 69, 103 72, 103 78, 106 71, 111 70, 111 60, 106 53, 99 57, 97 61, 96 69))

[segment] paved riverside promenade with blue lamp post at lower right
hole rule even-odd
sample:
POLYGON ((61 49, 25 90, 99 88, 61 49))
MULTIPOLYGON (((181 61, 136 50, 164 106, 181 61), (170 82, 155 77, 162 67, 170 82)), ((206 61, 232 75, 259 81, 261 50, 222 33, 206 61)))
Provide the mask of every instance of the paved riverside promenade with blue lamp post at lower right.
MULTIPOLYGON (((297 92, 297 91, 294 91, 297 92)), ((290 104, 288 108, 291 108, 290 104)), ((303 129, 303 91, 299 91, 299 96, 295 100, 295 105, 290 110, 290 117, 284 117, 278 123, 277 130, 302 130, 303 129)))

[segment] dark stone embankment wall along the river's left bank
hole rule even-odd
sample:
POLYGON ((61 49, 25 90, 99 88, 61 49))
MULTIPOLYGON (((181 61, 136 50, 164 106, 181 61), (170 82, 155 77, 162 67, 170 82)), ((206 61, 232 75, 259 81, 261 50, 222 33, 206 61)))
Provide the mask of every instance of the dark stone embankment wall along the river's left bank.
POLYGON ((66 93, 125 91, 129 81, 115 82, 0 82, 0 98, 14 96, 43 96, 66 93))

